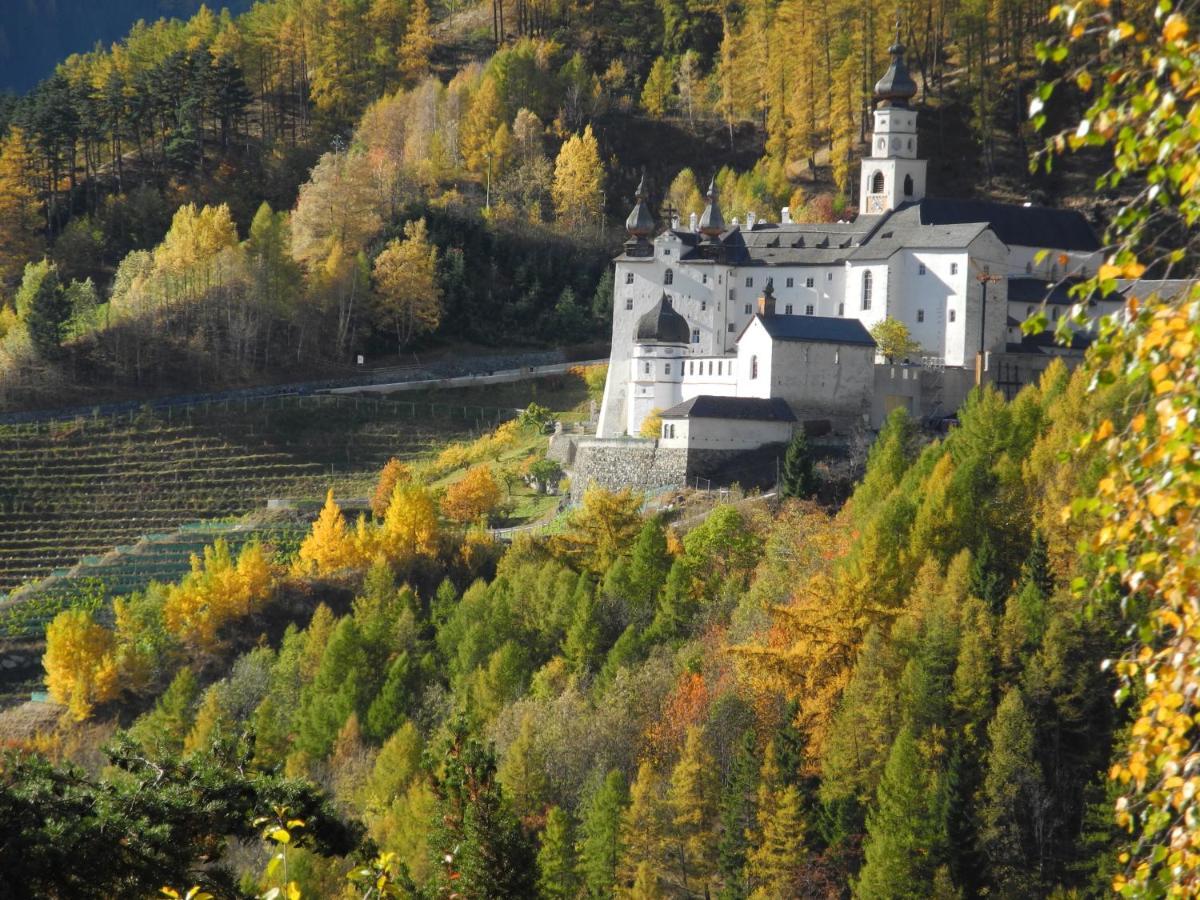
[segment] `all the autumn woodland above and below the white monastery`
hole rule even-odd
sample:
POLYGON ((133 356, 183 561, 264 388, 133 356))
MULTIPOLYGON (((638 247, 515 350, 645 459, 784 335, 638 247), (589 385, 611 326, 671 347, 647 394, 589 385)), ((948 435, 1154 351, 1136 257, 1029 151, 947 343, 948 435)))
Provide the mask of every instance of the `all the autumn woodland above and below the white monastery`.
MULTIPOLYGON (((0 113, 0 403, 588 342, 643 167, 682 215, 714 175, 731 218, 842 215, 896 40, 956 184, 1094 210, 1082 322, 1092 290, 1194 264, 1195 16, 139 22, 0 113)), ((530 402, 390 461, 361 510, 330 490, 295 542, 56 607, 62 718, 0 733, 0 896, 1196 895, 1198 409, 1200 292, 1134 290, 1076 370, 976 389, 946 433, 893 413, 845 492, 799 444, 778 496, 590 487, 498 534, 515 484, 562 475, 571 410, 530 402)))

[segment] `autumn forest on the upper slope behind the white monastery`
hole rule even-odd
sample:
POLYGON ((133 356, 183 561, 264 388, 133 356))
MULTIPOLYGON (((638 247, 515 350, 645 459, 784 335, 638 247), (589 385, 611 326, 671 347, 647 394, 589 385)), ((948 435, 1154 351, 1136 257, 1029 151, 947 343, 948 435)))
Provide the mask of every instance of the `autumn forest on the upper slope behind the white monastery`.
POLYGON ((684 220, 713 175, 731 217, 841 215, 895 40, 947 190, 1104 216, 1086 180, 1028 172, 1044 13, 269 0, 138 22, 0 103, 0 406, 593 340, 642 169, 684 220))

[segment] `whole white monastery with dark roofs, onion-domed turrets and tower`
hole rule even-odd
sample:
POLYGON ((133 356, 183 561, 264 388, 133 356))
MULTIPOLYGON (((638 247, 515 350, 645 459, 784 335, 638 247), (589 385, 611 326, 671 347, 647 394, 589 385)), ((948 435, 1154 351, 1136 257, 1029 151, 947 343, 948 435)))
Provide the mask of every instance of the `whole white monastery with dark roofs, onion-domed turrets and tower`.
POLYGON ((655 409, 671 446, 786 440, 797 420, 844 427, 871 409, 877 323, 907 325, 913 364, 967 376, 1021 341, 1048 282, 1096 271, 1100 242, 1078 211, 925 196, 917 85, 904 47, 890 53, 854 221, 798 223, 784 209, 779 222, 727 226, 714 184, 698 221, 655 234, 638 186, 598 437, 637 436, 655 409))

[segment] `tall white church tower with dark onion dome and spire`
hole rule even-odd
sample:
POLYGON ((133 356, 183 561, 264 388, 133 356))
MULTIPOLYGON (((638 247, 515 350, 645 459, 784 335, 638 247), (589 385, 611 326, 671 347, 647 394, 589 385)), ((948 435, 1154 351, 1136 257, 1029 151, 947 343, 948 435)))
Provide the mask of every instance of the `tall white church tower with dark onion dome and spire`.
POLYGON ((908 106, 917 84, 904 64, 899 32, 888 52, 892 65, 875 85, 871 155, 863 160, 858 211, 864 216, 925 196, 925 161, 917 158, 917 110, 908 106))

